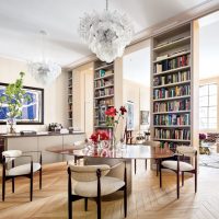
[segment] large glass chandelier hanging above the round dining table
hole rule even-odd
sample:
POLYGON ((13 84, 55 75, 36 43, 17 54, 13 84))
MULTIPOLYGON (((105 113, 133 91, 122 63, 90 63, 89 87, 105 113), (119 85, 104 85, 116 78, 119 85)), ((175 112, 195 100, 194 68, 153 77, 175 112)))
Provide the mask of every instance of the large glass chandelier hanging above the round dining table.
POLYGON ((106 62, 123 56, 125 47, 130 44, 134 27, 125 14, 106 10, 102 13, 85 13, 79 25, 80 37, 89 44, 89 48, 106 62))

